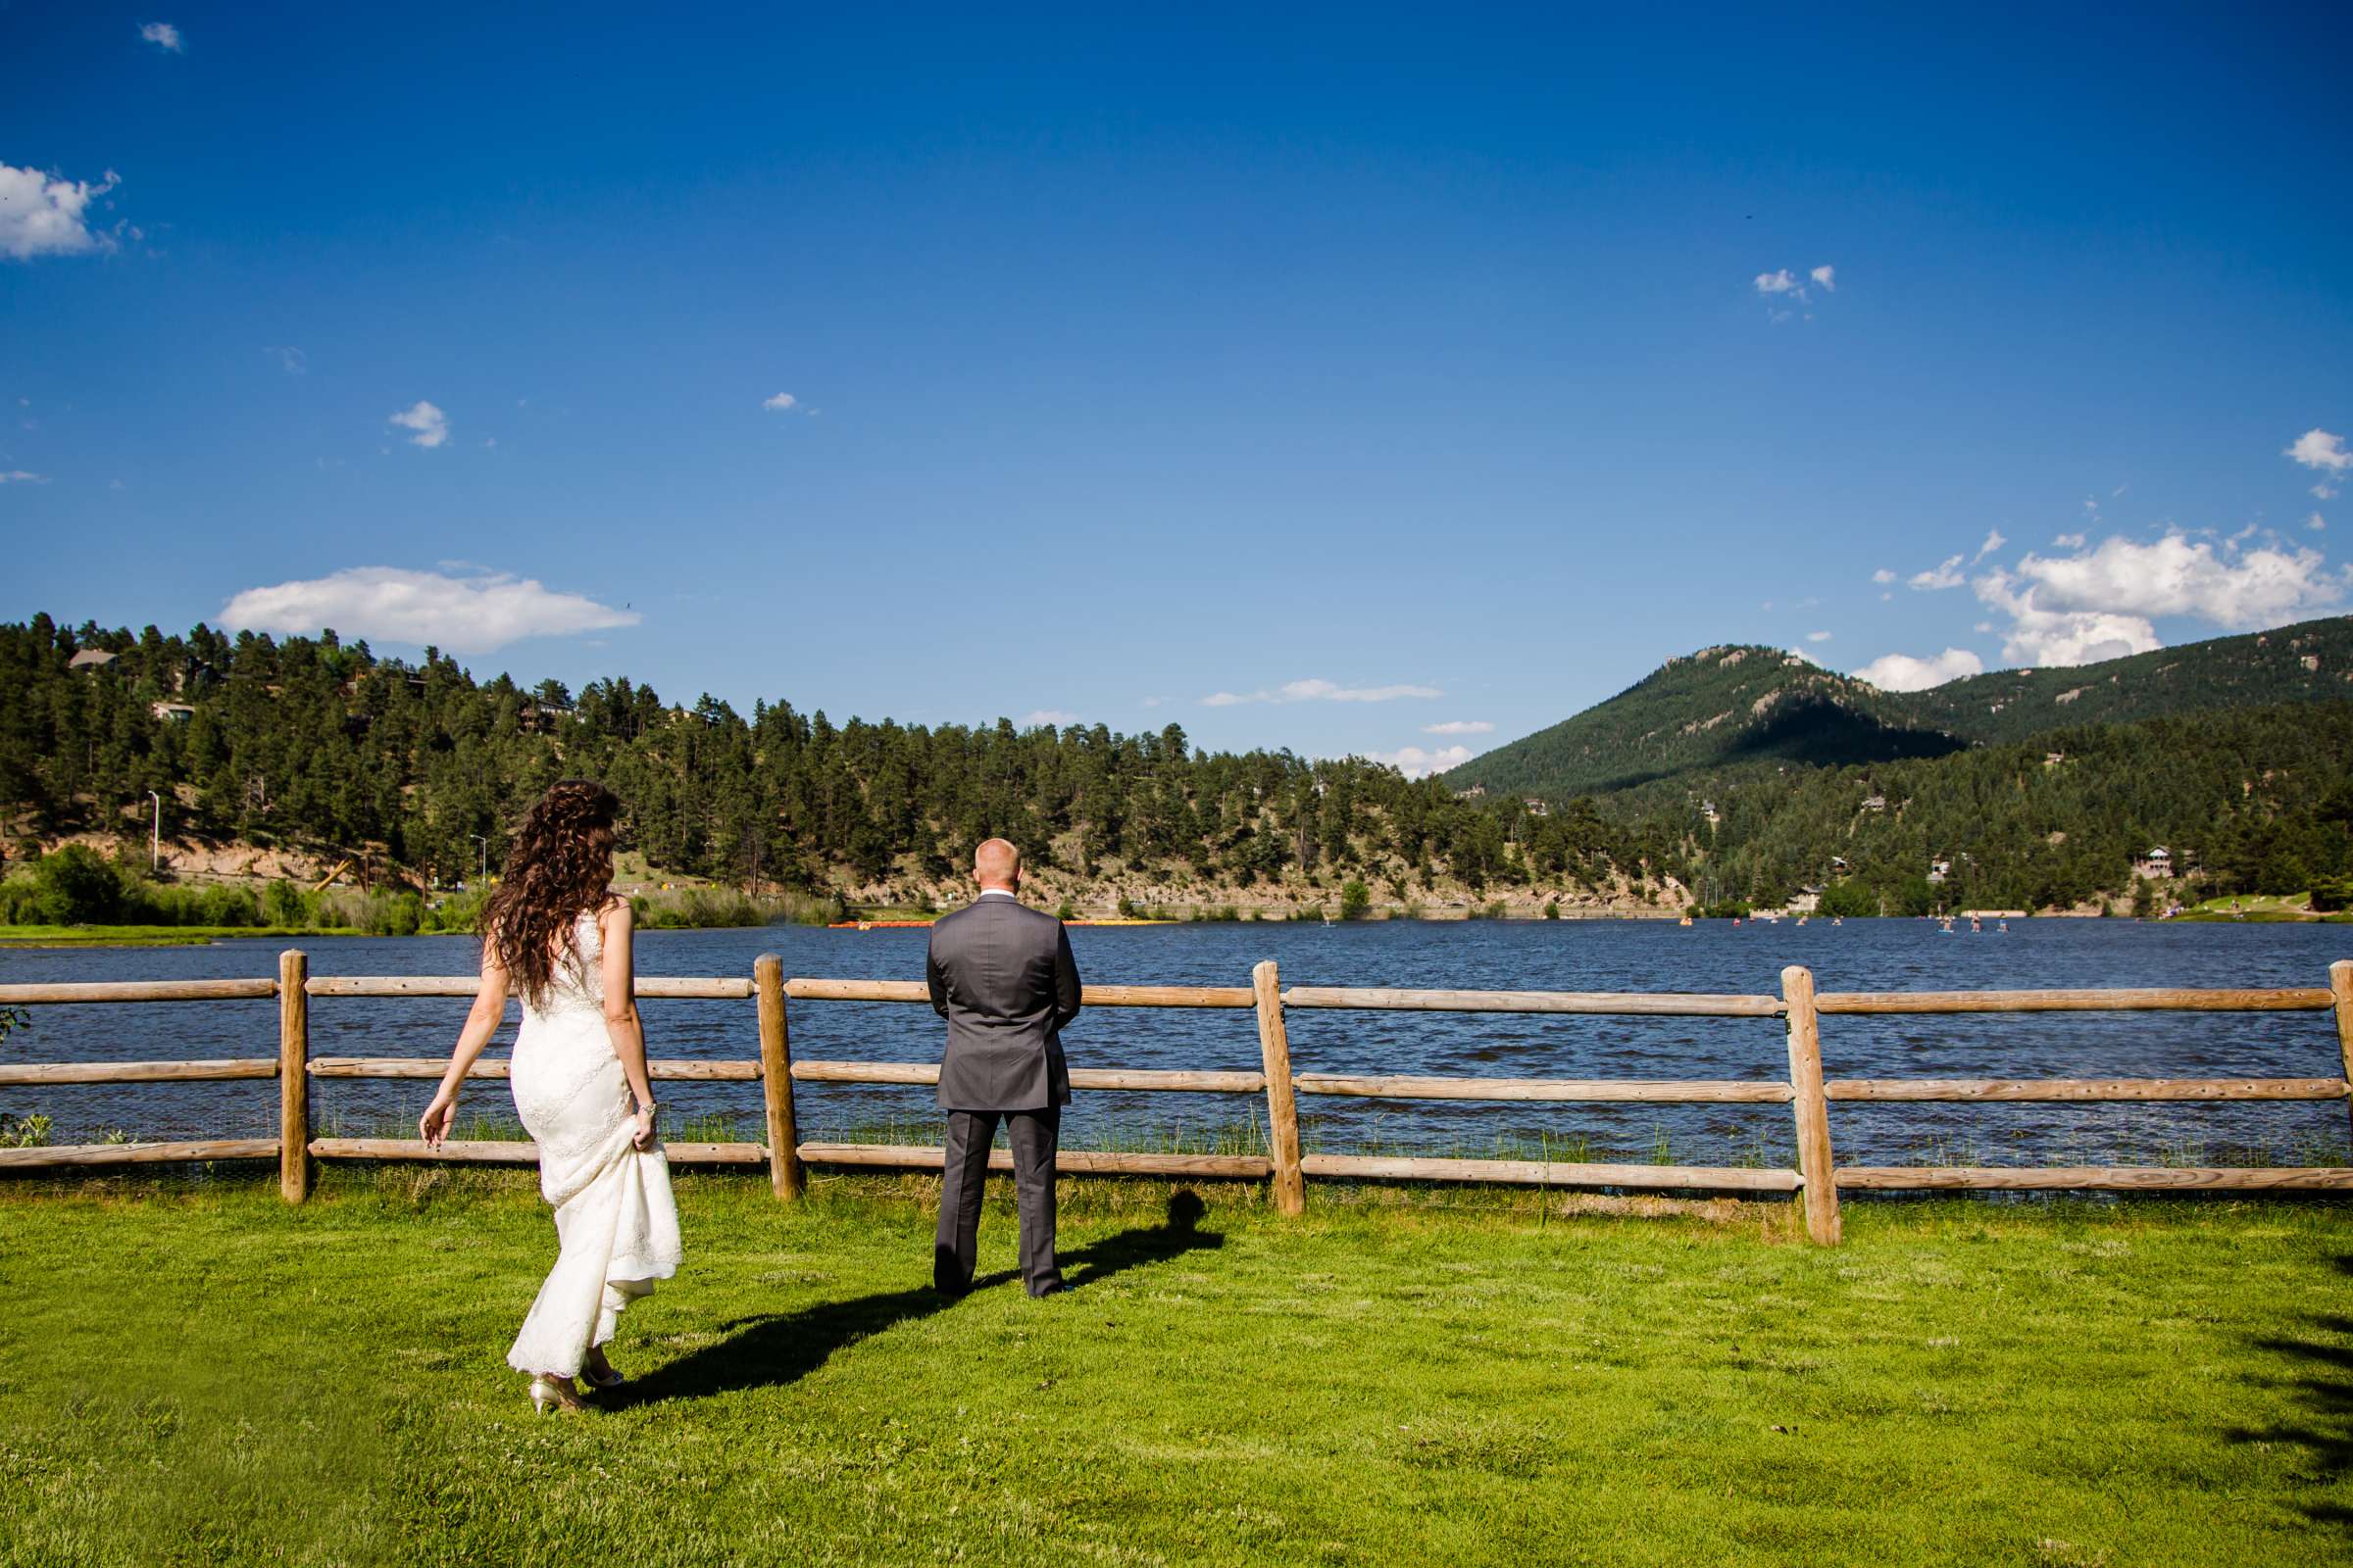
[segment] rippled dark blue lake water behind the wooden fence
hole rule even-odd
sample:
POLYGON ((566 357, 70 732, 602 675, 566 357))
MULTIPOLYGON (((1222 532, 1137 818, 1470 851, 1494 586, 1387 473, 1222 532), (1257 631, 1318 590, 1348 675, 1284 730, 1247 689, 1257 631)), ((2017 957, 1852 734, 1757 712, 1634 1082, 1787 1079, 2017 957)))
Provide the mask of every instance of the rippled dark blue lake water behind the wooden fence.
MULTIPOLYGON (((1202 924, 1071 931, 1080 971, 1096 983, 1247 985, 1275 959, 1285 985, 1412 985, 1466 990, 1777 992, 1784 964, 1809 964, 1821 990, 2019 990, 2193 985, 2327 985, 2353 957, 2353 929, 2021 919, 1946 936, 1929 922, 1377 922, 1348 926, 1202 924)), ((134 980, 273 976, 282 943, 212 947, 0 950, 0 980, 134 980)), ((313 976, 464 973, 471 938, 311 938, 313 976)), ((748 976, 762 952, 788 976, 922 978, 922 931, 647 931, 649 976, 748 976)), ((466 1004, 315 997, 313 1056, 442 1056, 466 1004)), ((753 1058, 748 1001, 645 1004, 652 1056, 753 1058)), ((275 1001, 33 1009, 9 1039, 16 1060, 153 1060, 275 1053, 275 1001)), ((798 1058, 936 1060, 939 1020, 904 1004, 791 1004, 798 1058)), ((1781 1079, 1774 1018, 1522 1018, 1497 1013, 1289 1013, 1297 1072, 1417 1072, 1475 1077, 1781 1079)), ((1821 1023, 1828 1077, 2337 1077, 2327 1013, 2026 1013, 1847 1018, 1821 1023)), ((513 1023, 492 1053, 504 1053, 513 1023)), ((1099 1009, 1066 1034, 1085 1067, 1259 1065, 1247 1011, 1099 1009)), ((424 1081, 313 1084, 313 1126, 372 1133, 414 1128, 424 1081)), ((758 1138, 755 1084, 664 1084, 678 1117, 736 1117, 758 1138)), ((934 1138, 929 1088, 798 1086, 802 1138, 934 1138)), ((275 1088, 125 1084, 0 1088, 0 1114, 47 1112, 54 1140, 122 1128, 134 1138, 271 1138, 275 1088)), ((506 1086, 471 1086, 468 1112, 511 1119, 506 1086)), ((1080 1093, 1066 1147, 1200 1143, 1264 1121, 1252 1095, 1080 1093)), ((675 1128, 675 1121, 671 1124, 675 1128)), ((1793 1164, 1781 1105, 1485 1105, 1301 1100, 1308 1152, 1527 1152, 1649 1159, 1661 1140, 1678 1161, 1793 1164), (1565 1154, 1567 1152, 1567 1154, 1565 1154)), ((1833 1105, 1842 1164, 2155 1164, 2249 1159, 2353 1164, 2341 1103, 2287 1105, 1833 1105)))

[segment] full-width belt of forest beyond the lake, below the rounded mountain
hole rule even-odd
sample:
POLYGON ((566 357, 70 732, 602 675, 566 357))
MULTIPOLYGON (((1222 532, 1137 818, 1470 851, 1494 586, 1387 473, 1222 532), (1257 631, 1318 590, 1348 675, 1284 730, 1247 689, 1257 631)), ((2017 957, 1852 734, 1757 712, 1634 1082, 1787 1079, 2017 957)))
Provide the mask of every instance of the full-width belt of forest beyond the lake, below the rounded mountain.
POLYGON ((332 632, 38 616, 0 625, 0 919, 66 924, 38 863, 80 839, 115 849, 94 856, 113 860, 94 896, 118 922, 456 929, 506 825, 560 776, 628 802, 626 849, 673 884, 638 889, 654 924, 941 907, 988 835, 1073 914, 2153 914, 2289 893, 2327 910, 2353 877, 2348 762, 2353 705, 2297 703, 1544 799, 1360 757, 1207 752, 1176 724, 835 724, 666 703, 628 677, 478 679, 332 632), (214 870, 144 875, 151 832, 214 870), (2167 844, 2169 875, 2146 875, 2167 844), (275 875, 238 875, 240 856, 275 875))

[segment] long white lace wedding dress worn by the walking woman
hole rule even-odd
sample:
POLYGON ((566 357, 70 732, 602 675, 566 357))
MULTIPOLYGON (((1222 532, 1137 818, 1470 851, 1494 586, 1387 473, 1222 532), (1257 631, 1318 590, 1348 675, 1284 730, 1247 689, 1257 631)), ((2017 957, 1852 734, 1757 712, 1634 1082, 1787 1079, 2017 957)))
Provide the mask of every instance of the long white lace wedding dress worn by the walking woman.
POLYGON ((621 1058, 605 1032, 602 936, 579 917, 579 959, 565 957, 539 1006, 522 1004, 511 1086, 539 1143, 539 1192, 555 1206, 558 1258, 522 1319, 508 1366, 576 1375, 614 1316, 678 1272, 678 1206, 661 1145, 638 1152, 621 1058))

